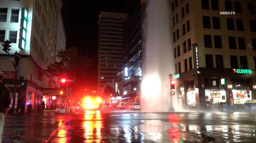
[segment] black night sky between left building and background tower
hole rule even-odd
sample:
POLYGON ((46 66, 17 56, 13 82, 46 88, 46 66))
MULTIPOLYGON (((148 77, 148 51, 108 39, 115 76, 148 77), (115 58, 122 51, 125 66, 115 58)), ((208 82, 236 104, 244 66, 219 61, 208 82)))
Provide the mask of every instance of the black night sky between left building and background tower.
POLYGON ((67 47, 77 47, 78 57, 88 52, 94 60, 87 79, 79 79, 80 88, 97 89, 98 20, 100 11, 127 13, 126 0, 62 0, 62 16, 67 47))

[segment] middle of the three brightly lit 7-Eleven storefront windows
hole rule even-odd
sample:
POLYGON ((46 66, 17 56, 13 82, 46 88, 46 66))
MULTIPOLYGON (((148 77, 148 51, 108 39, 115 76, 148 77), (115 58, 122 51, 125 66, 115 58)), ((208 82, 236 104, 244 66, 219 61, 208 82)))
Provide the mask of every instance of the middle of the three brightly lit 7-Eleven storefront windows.
POLYGON ((226 91, 205 90, 205 100, 212 104, 220 104, 220 102, 226 102, 226 91))

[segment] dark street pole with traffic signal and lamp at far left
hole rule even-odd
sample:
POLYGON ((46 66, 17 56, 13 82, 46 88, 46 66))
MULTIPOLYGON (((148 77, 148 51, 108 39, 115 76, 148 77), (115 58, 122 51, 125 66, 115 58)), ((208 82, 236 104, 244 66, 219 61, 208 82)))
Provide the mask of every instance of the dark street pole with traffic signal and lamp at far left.
POLYGON ((11 42, 9 40, 6 40, 2 43, 3 45, 3 51, 9 55, 8 60, 10 60, 13 63, 13 66, 15 68, 15 79, 14 79, 14 91, 13 91, 13 103, 12 103, 12 112, 15 114, 15 98, 16 98, 16 84, 17 84, 17 70, 18 70, 18 65, 19 65, 19 60, 20 60, 20 54, 17 53, 17 51, 14 53, 14 58, 10 56, 9 47, 11 47, 11 42), (4 44, 3 44, 4 43, 4 44), (13 60, 14 59, 14 60, 13 60))

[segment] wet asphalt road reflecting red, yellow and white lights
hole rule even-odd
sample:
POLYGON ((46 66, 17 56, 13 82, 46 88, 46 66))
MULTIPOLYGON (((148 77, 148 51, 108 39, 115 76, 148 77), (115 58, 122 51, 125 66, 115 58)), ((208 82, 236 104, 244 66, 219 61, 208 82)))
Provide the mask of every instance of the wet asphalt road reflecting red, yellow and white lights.
POLYGON ((246 112, 102 112, 7 116, 3 142, 256 142, 246 112))

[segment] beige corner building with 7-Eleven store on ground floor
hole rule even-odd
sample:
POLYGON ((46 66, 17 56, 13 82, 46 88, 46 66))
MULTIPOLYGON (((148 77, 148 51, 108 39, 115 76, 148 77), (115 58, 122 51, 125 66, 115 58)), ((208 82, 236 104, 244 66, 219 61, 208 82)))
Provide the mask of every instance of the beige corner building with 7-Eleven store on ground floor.
POLYGON ((171 1, 173 78, 184 107, 218 109, 227 102, 242 109, 256 98, 255 6, 252 0, 171 1))

